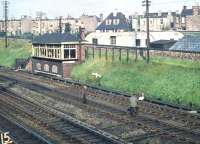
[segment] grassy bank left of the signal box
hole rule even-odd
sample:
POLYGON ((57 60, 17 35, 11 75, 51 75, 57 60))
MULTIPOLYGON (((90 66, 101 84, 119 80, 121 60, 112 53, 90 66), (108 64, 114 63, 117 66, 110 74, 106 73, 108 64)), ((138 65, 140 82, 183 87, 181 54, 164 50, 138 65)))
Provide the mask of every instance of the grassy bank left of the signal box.
POLYGON ((16 58, 28 58, 31 55, 31 43, 26 40, 9 40, 6 49, 4 40, 0 40, 0 65, 11 67, 16 58))

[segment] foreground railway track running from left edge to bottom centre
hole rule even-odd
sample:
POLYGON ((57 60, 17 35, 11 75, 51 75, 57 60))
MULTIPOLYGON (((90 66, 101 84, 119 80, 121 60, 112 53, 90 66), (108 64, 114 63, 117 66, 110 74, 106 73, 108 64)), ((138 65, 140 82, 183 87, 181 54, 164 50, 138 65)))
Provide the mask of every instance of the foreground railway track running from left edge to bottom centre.
MULTIPOLYGON (((1 101, 4 105, 4 111, 16 111, 18 115, 23 113, 22 117, 29 116, 34 119, 36 123, 42 124, 51 133, 55 133, 62 138, 62 143, 77 143, 77 144, 121 144, 119 139, 108 133, 99 131, 89 125, 77 121, 72 117, 67 116, 61 112, 58 112, 49 107, 36 105, 32 102, 23 99, 22 97, 16 96, 12 92, 1 91, 1 101), (6 105, 4 104, 6 103, 6 105), (12 108, 15 107, 15 109, 12 108), (12 108, 12 110, 11 110, 12 108)), ((2 109, 1 109, 2 111, 2 109)), ((58 142, 60 143, 60 142, 58 142)))

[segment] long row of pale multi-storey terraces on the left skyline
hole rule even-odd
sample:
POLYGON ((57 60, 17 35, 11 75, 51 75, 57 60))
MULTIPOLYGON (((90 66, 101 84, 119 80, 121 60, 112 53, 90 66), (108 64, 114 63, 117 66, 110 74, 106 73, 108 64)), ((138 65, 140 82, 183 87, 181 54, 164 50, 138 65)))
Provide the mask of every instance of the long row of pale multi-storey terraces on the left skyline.
MULTIPOLYGON (((86 33, 94 32, 99 23, 96 16, 83 15, 80 18, 31 18, 22 16, 21 19, 11 19, 8 21, 8 35, 18 36, 24 33, 42 35, 45 33, 54 33, 59 31, 60 21, 62 32, 65 31, 66 24, 70 25, 71 33, 77 33, 79 27, 85 29, 86 33)), ((4 32, 4 21, 0 21, 0 32, 4 32)))

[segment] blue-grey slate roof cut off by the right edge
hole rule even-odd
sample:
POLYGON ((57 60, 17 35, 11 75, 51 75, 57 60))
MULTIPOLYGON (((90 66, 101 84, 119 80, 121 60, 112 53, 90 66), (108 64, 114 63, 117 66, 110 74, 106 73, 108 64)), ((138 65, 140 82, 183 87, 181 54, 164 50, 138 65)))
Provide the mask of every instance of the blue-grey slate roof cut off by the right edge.
POLYGON ((181 40, 175 43, 170 50, 200 52, 200 36, 184 36, 181 40))

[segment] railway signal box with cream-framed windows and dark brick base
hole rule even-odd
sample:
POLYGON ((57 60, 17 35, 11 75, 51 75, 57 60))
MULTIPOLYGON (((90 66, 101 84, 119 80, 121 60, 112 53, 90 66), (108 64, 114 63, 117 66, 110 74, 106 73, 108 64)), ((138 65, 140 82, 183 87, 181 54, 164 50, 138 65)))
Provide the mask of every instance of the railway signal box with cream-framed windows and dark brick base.
POLYGON ((33 40, 33 72, 67 78, 72 67, 84 61, 84 52, 77 35, 44 34, 33 40))

